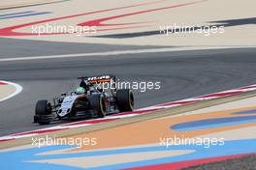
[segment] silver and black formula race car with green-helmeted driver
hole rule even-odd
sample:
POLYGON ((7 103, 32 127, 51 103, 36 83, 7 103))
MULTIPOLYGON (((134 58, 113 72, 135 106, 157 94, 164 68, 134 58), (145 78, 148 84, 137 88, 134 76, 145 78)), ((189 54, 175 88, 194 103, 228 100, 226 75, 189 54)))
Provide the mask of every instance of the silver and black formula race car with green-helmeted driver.
POLYGON ((79 79, 77 91, 62 94, 52 102, 47 99, 38 100, 34 123, 48 125, 62 119, 103 118, 107 114, 133 110, 134 96, 130 89, 104 87, 104 83, 115 83, 115 76, 84 76, 79 79))

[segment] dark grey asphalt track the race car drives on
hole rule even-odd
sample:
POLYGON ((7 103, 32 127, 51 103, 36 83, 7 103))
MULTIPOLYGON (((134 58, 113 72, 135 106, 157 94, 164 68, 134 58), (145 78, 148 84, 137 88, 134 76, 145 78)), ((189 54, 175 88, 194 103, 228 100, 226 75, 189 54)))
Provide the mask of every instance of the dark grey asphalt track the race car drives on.
MULTIPOLYGON (((29 45, 19 48, 29 53, 29 45)), ((2 57, 12 56, 3 47, 0 51, 2 57)), ((125 81, 160 81, 160 90, 135 91, 136 107, 141 108, 254 84, 255 53, 256 48, 240 48, 0 62, 1 79, 23 87, 15 98, 0 102, 0 135, 43 128, 32 124, 36 101, 76 88, 81 75, 113 73, 125 81)))

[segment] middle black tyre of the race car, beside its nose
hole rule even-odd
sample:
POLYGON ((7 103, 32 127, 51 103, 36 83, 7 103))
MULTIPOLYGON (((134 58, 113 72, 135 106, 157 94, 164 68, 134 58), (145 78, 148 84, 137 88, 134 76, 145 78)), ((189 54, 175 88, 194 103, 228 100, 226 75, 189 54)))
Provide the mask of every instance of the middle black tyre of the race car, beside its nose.
POLYGON ((90 108, 97 112, 98 118, 106 116, 105 100, 101 94, 94 94, 89 98, 90 108))

